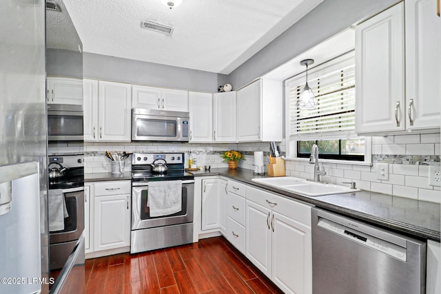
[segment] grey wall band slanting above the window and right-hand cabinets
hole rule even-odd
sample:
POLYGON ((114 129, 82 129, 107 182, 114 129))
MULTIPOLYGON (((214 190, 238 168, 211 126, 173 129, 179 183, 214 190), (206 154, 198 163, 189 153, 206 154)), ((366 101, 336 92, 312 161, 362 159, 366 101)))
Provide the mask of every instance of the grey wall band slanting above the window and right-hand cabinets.
POLYGON ((395 2, 396 0, 323 1, 231 72, 228 82, 238 89, 395 2))

